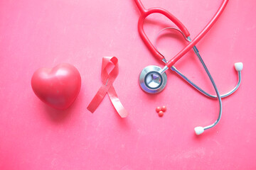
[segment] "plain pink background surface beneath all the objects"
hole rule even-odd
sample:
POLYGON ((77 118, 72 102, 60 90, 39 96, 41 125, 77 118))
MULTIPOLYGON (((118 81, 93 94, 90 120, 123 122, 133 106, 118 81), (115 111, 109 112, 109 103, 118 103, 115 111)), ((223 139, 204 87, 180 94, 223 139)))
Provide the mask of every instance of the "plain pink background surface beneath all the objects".
MULTIPOLYGON (((146 8, 171 11, 194 38, 220 0, 142 0, 146 8)), ((223 16, 198 43, 223 94, 238 78, 242 85, 223 99, 223 118, 203 135, 193 128, 213 123, 218 102, 198 93, 171 71, 157 95, 139 87, 141 70, 162 63, 152 57, 137 32, 139 11, 132 0, 0 1, 0 169, 256 169, 255 39, 256 1, 230 1, 223 16), (87 105, 101 86, 102 57, 119 58, 114 87, 129 116, 119 118, 109 98, 94 114, 87 105), (82 88, 73 106, 57 111, 31 89, 40 67, 75 65, 82 88), (166 105, 163 118, 156 106, 166 105)), ((145 25, 151 40, 165 26, 158 16, 145 25)), ((170 34, 169 34, 170 35, 170 34)), ((168 58, 182 49, 181 36, 162 36, 168 58)), ((189 52, 176 65, 203 89, 213 88, 189 52)))

